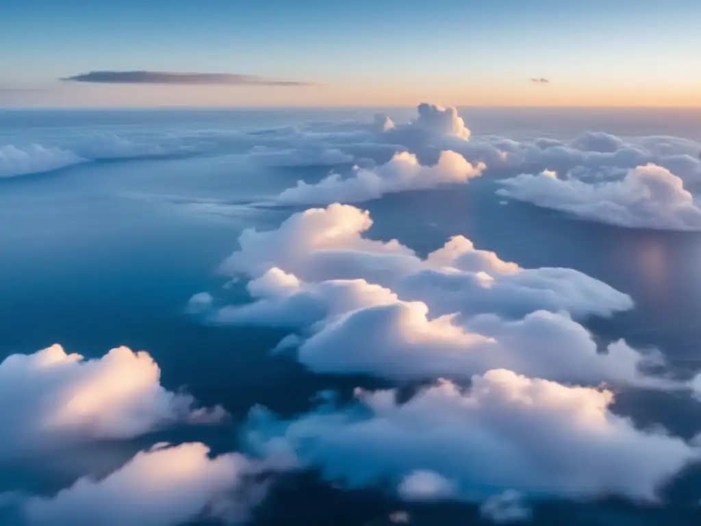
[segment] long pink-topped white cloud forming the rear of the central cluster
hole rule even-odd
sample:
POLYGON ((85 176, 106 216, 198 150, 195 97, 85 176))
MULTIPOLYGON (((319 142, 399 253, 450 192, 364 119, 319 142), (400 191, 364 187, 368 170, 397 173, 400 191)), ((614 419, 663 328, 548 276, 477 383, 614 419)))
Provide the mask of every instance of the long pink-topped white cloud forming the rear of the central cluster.
POLYGON ((443 313, 517 315, 547 309, 609 316, 632 307, 627 295, 585 274, 522 269, 494 252, 476 249, 463 236, 451 238, 422 260, 396 240, 366 238, 370 227, 369 213, 351 205, 311 208, 292 215, 278 229, 244 231, 240 250, 220 270, 259 278, 278 267, 306 283, 365 279, 443 313))

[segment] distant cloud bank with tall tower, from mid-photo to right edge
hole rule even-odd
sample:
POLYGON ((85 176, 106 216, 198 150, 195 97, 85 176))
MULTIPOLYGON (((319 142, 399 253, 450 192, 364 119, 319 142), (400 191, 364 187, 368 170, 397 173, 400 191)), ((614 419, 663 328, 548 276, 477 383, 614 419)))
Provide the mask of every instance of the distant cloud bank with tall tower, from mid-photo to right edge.
MULTIPOLYGON (((257 137, 261 138, 261 137, 257 137)), ((377 115, 372 123, 308 123, 280 129, 280 135, 265 140, 284 148, 287 143, 303 149, 312 145, 339 149, 355 159, 369 157, 386 163, 397 151, 409 151, 419 159, 435 159, 437 151, 451 150, 477 166, 484 162, 484 175, 506 177, 550 169, 566 173, 573 168, 635 168, 655 163, 679 175, 686 183, 701 187, 701 144, 681 137, 618 137, 587 131, 566 137, 536 137, 517 141, 496 135, 472 136, 455 109, 421 104, 409 122, 395 122, 377 115), (287 137, 287 139, 285 139, 287 137), (468 140, 469 139, 469 140, 468 140)))

